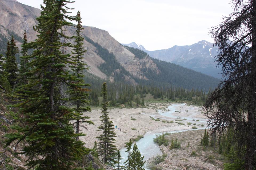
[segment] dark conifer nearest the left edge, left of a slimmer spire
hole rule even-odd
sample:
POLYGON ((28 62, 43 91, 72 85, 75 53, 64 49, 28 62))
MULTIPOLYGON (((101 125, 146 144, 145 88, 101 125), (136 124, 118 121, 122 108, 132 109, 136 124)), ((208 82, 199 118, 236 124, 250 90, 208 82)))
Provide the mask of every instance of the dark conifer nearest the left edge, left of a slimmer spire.
POLYGON ((17 76, 18 76, 18 66, 15 58, 15 54, 19 52, 18 47, 14 41, 14 37, 11 37, 11 42, 7 43, 7 51, 6 51, 6 72, 7 79, 11 85, 11 88, 15 88, 17 84, 17 76))

